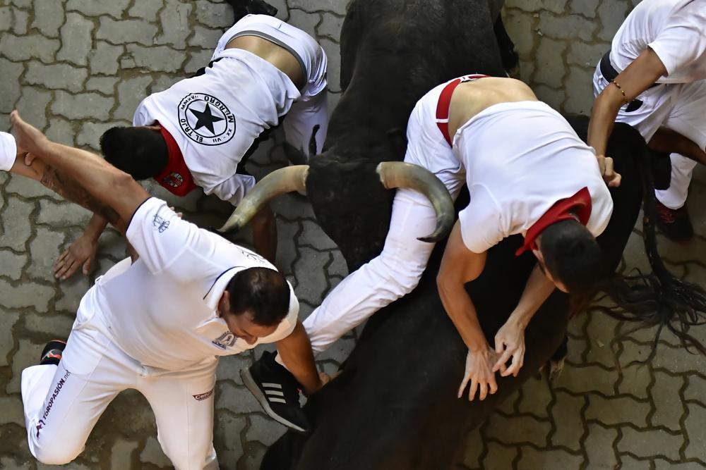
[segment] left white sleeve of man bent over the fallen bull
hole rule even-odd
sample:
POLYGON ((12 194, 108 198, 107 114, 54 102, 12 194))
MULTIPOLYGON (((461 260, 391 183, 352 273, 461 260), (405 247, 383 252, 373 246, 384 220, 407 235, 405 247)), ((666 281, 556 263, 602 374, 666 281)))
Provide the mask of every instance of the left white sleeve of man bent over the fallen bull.
POLYGON ((471 202, 458 213, 463 244, 474 253, 483 253, 507 235, 503 231, 501 211, 483 185, 469 188, 471 202))

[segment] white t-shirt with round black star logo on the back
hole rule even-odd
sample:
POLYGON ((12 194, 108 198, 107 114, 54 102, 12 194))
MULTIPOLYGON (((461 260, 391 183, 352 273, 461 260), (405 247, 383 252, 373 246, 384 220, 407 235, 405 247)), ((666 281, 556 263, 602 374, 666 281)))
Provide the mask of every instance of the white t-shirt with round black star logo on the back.
POLYGON ((238 204, 255 178, 236 173, 263 130, 300 97, 273 64, 243 49, 222 51, 205 74, 181 80, 143 99, 133 125, 160 125, 174 137, 196 185, 238 204))

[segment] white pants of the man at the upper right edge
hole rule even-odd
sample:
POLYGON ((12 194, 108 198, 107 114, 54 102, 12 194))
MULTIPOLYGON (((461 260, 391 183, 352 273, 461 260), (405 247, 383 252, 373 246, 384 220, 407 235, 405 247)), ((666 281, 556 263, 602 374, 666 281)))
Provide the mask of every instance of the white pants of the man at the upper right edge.
MULTIPOLYGON (((599 65, 593 75, 595 96, 607 85, 599 65)), ((618 111, 617 122, 632 125, 647 142, 664 127, 692 140, 700 149, 706 149, 706 80, 657 85, 642 92, 637 99, 642 101, 642 106, 630 112, 623 106, 618 111)), ((665 206, 679 209, 686 202, 696 162, 680 154, 671 154, 670 159, 669 188, 654 193, 665 206)))

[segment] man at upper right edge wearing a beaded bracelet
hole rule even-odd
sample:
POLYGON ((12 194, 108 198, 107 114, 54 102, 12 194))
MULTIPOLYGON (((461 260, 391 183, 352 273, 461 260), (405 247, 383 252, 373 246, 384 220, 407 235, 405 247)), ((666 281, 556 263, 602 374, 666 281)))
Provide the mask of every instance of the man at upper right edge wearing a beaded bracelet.
POLYGON ((593 78, 588 143, 603 155, 617 120, 671 154, 671 183, 656 192, 657 225, 678 242, 693 237, 686 197, 693 168, 706 163, 705 31, 706 0, 643 0, 593 78))

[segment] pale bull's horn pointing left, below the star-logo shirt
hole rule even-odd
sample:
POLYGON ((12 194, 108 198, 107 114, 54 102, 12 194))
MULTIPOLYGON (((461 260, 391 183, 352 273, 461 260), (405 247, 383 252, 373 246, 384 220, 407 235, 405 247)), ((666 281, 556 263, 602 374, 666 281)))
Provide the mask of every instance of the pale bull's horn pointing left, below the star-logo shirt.
POLYGON ((306 174, 309 165, 287 166, 265 176, 238 204, 219 232, 240 230, 270 199, 285 192, 306 192, 306 174))

